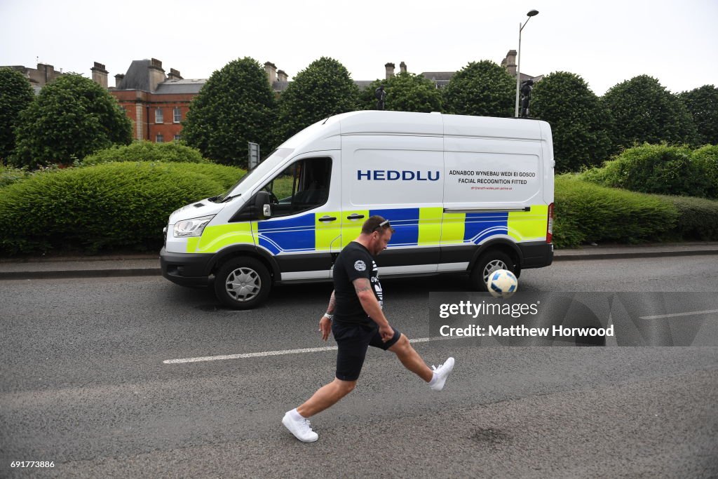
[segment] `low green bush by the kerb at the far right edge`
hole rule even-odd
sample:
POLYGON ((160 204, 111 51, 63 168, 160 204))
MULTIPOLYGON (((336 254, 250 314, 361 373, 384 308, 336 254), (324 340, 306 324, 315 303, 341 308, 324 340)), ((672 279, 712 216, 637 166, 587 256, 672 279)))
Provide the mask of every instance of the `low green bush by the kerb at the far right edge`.
POLYGON ((687 196, 661 196, 678 211, 668 241, 718 241, 718 201, 687 196))

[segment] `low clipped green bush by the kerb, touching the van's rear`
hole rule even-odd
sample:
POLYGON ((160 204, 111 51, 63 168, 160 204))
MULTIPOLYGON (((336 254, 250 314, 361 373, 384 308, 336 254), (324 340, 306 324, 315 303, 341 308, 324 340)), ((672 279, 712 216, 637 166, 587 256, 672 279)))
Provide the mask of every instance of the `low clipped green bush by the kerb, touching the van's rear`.
POLYGON ((585 182, 575 175, 556 177, 554 243, 658 241, 678 219, 676 208, 656 195, 640 195, 585 182))

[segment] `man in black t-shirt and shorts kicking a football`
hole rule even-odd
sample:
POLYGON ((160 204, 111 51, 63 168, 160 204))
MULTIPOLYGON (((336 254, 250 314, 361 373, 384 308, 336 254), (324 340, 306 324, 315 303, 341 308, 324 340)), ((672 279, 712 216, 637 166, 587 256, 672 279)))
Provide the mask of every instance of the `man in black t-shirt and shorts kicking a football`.
POLYGON ((337 256, 334 291, 319 323, 322 339, 326 341, 331 331, 337 341, 336 377, 281 419, 300 441, 319 439, 308 418, 336 404, 355 388, 369 346, 396 354, 405 368, 429 383, 434 391, 444 389, 447 376, 454 368, 454 358, 448 358, 438 368, 432 366, 433 370, 426 366, 409 339, 384 317, 383 292, 373 257, 386 249, 393 232, 388 220, 372 216, 363 224, 359 237, 337 256))

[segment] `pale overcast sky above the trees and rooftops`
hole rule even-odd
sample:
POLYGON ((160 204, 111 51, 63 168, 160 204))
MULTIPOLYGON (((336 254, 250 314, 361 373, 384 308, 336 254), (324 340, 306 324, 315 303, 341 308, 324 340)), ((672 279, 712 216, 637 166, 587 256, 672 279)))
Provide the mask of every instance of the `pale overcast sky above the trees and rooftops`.
POLYGON ((597 95, 643 74, 674 93, 718 85, 718 0, 0 0, 0 65, 39 59, 90 77, 100 62, 113 86, 150 57, 184 78, 209 78, 238 57, 292 78, 328 56, 354 80, 376 80, 386 62, 411 73, 500 63, 531 9, 524 73, 577 73, 597 95))

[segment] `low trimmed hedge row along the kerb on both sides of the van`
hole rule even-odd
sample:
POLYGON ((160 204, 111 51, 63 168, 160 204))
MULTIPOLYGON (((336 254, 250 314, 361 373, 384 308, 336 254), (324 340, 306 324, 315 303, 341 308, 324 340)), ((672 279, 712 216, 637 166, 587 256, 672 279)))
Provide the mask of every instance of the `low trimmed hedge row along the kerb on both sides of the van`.
MULTIPOLYGON (((225 192, 244 171, 121 162, 37 172, 0 190, 0 252, 157 251, 172 211, 225 192)), ((634 193, 556 177, 554 243, 718 241, 718 201, 634 193)))

